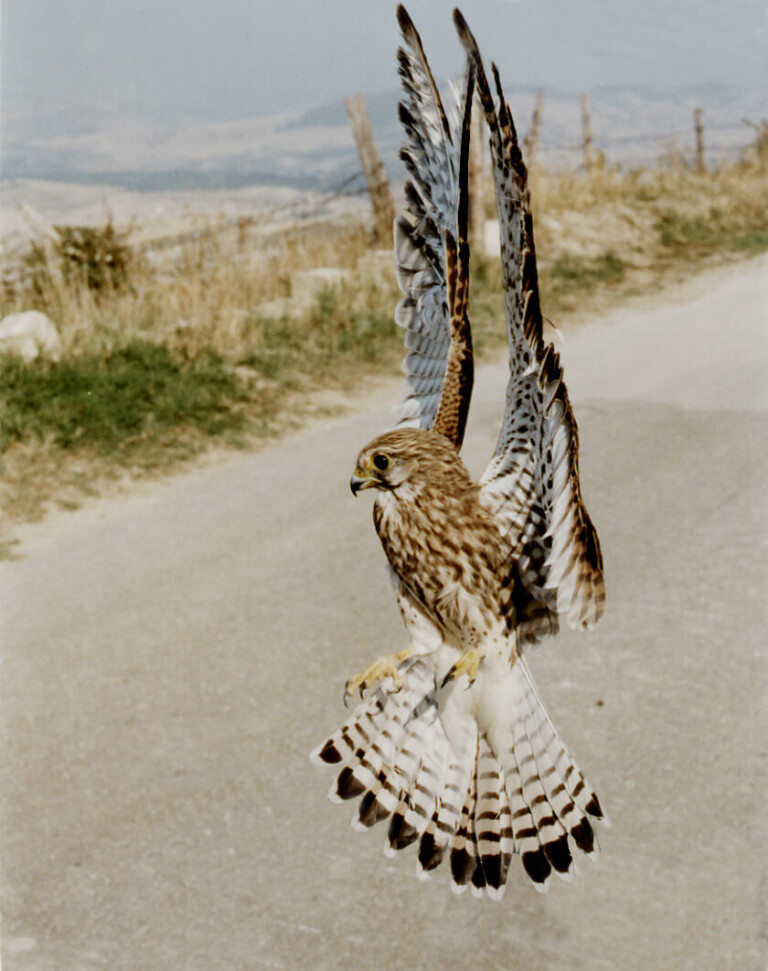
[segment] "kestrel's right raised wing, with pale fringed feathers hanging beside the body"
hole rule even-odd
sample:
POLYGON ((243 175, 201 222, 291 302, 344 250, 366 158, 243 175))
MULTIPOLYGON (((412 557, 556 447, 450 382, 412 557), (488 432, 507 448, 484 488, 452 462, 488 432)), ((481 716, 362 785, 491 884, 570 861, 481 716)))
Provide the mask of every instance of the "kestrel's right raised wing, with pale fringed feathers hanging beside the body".
POLYGON ((454 22, 490 130, 509 340, 507 404, 481 501, 506 537, 518 635, 554 633, 565 614, 593 627, 603 613, 600 543, 581 499, 578 433, 559 355, 542 334, 528 173, 493 66, 491 92, 477 43, 458 10, 454 22))

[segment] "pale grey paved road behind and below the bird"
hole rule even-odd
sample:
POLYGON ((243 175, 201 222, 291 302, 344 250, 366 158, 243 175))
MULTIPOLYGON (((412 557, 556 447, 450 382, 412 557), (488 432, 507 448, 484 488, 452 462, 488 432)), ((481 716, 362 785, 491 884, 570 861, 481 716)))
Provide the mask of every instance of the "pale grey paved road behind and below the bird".
MULTIPOLYGON (((767 279, 702 278, 563 348, 609 610, 532 664, 612 818, 599 862, 456 898, 325 801, 307 754, 344 678, 404 643, 347 487, 377 406, 0 565, 4 971, 762 971, 767 279)), ((477 471, 503 368, 478 385, 477 471)))

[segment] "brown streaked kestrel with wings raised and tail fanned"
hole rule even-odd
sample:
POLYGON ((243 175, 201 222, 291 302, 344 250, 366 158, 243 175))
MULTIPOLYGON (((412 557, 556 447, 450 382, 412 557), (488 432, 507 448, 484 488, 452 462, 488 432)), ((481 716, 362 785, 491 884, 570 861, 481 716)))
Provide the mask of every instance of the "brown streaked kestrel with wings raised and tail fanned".
POLYGON ((499 899, 514 854, 541 891, 598 851, 597 795, 541 701, 525 649, 561 617, 594 627, 605 587, 581 499, 576 422, 542 334, 527 171, 493 66, 463 16, 464 83, 446 110, 401 6, 401 157, 395 225, 405 294, 407 396, 398 425, 360 452, 353 493, 373 518, 410 645, 347 682, 363 701, 315 752, 338 769, 329 798, 359 797, 357 829, 389 820, 385 852, 414 843, 420 873, 443 859, 452 887, 499 899), (467 166, 474 90, 490 132, 501 233, 509 383, 501 433, 473 482, 459 457, 473 381, 467 313, 467 166))

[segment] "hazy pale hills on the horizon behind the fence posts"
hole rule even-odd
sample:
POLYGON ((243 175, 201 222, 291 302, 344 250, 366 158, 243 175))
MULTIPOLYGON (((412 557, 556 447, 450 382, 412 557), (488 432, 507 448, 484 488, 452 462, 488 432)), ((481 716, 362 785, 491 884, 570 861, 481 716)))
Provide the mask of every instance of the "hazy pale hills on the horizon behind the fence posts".
MULTIPOLYGON (((518 128, 530 123, 536 90, 510 87, 518 128)), ((692 109, 704 110, 712 162, 734 157, 752 138, 743 119, 768 117, 768 97, 709 84, 679 89, 599 88, 590 93, 595 148, 608 161, 651 164, 664 152, 690 151, 692 109)), ((374 133, 393 179, 401 133, 396 91, 367 98, 374 133)), ((255 118, 178 118, 159 122, 111 106, 84 112, 66 105, 45 112, 5 106, 3 178, 100 182, 142 191, 286 185, 332 188, 358 169, 342 102, 255 118)), ((549 166, 580 162, 578 93, 546 91, 539 159, 549 166)))

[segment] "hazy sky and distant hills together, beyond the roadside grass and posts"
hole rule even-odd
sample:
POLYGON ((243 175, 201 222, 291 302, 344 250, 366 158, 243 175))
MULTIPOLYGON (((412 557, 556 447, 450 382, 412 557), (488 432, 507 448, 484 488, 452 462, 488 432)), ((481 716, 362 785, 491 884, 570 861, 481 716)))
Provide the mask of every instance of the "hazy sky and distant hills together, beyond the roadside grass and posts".
MULTIPOLYGON (((408 5, 441 81, 463 68, 452 6, 408 5)), ((5 231, 21 228, 21 202, 60 221, 93 220, 104 199, 116 216, 142 219, 178 213, 183 201, 205 211, 300 206, 301 190, 339 188, 359 169, 343 106, 355 91, 400 178, 394 8, 6 0, 5 231)), ((768 115, 759 0, 468 0, 463 9, 523 130, 543 89, 548 167, 582 161, 583 94, 595 151, 623 165, 693 152, 694 108, 707 161, 731 161, 768 115)))

